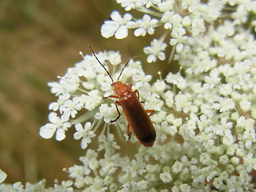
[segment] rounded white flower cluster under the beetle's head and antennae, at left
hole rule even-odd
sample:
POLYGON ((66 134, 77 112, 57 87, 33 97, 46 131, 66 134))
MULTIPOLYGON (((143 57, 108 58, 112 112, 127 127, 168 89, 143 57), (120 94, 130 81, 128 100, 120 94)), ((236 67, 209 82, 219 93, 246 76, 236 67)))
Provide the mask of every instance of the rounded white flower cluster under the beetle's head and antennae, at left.
MULTIPOLYGON (((108 63, 111 64, 114 78, 117 78, 119 72, 115 73, 115 70, 121 62, 120 54, 114 51, 100 52, 97 57, 106 67, 108 63)), ((122 81, 128 82, 126 79, 130 79, 134 89, 139 90, 140 97, 145 100, 146 96, 150 95, 151 76, 144 74, 140 62, 132 60, 125 70, 121 77, 122 81)), ((52 102, 49 106, 53 111, 49 114, 50 123, 40 128, 42 138, 52 138, 56 134, 56 139, 61 141, 66 138, 66 131, 74 125, 77 130, 74 138, 82 138, 82 149, 86 149, 91 138, 96 136, 94 131, 101 125, 102 119, 110 123, 118 116, 114 102, 111 102, 110 98, 104 98, 115 94, 110 77, 93 55, 86 55, 83 61, 70 68, 59 82, 50 82, 49 86, 51 86, 51 92, 58 96, 58 101, 52 102), (87 122, 88 120, 93 122, 87 122), (83 122, 86 122, 84 127, 83 122)), ((153 99, 145 100, 146 106, 153 107, 155 102, 153 99)), ((160 107, 157 110, 160 110, 160 107)), ((124 117, 118 121, 124 135, 126 135, 125 122, 124 117)), ((107 126, 102 130, 102 134, 109 132, 109 129, 110 126, 107 126)), ((135 139, 133 138, 132 141, 135 139)))

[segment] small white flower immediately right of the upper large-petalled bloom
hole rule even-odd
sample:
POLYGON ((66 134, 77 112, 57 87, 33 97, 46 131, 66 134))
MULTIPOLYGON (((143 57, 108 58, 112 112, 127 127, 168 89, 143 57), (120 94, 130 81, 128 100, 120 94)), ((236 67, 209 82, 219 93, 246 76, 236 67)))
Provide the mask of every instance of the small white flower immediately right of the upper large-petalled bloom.
POLYGON ((134 30, 134 35, 145 36, 146 33, 154 34, 154 27, 157 26, 158 20, 155 18, 150 18, 150 15, 145 14, 144 17, 138 21, 136 21, 135 25, 139 26, 138 29, 134 30))

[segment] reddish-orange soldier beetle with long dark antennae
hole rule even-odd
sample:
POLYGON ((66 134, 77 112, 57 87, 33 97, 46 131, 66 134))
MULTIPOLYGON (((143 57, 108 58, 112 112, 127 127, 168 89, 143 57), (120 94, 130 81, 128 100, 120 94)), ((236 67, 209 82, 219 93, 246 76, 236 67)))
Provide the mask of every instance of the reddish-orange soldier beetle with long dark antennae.
MULTIPOLYGON (((102 65, 94 53, 94 50, 90 47, 90 50, 93 52, 94 57, 97 59, 99 64, 106 70, 106 67, 102 65)), ((118 105, 122 106, 122 110, 126 115, 128 122, 127 126, 127 135, 130 138, 131 130, 134 132, 138 141, 142 143, 143 146, 153 146, 156 133, 154 130, 153 123, 151 122, 150 115, 154 114, 154 110, 145 110, 142 106, 142 103, 139 102, 139 93, 138 90, 132 90, 132 85, 126 85, 122 82, 119 82, 119 78, 122 75, 123 70, 126 68, 130 60, 122 68, 118 76, 118 81, 114 82, 108 70, 106 73, 110 76, 112 81, 111 86, 114 86, 114 91, 117 95, 109 95, 106 98, 119 98, 119 101, 115 102, 116 109, 118 110, 118 105), (131 130, 130 130, 131 129, 131 130)), ((121 113, 118 110, 118 118, 120 118, 121 113)), ((116 122, 118 118, 110 121, 116 122)))

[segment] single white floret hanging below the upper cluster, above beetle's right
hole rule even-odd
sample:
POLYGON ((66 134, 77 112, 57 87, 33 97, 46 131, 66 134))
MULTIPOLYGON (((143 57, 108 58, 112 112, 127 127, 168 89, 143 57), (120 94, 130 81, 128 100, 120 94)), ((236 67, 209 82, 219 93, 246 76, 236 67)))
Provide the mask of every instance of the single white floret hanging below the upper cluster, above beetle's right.
POLYGON ((155 62, 157 58, 159 58, 161 61, 166 59, 166 55, 163 52, 166 50, 166 43, 162 42, 161 40, 154 39, 153 42, 150 43, 150 46, 146 46, 144 48, 145 54, 150 54, 147 57, 147 62, 155 62))

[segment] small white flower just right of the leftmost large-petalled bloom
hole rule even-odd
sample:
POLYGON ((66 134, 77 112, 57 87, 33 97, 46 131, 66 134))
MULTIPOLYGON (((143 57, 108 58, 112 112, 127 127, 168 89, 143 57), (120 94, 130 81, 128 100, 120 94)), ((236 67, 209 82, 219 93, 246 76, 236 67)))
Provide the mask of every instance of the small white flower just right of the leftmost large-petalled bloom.
POLYGON ((77 132, 74 133, 74 139, 78 140, 82 138, 81 147, 84 150, 86 149, 87 144, 91 142, 90 138, 94 138, 96 134, 94 134, 94 131, 91 130, 90 122, 86 122, 84 128, 82 128, 81 123, 76 124, 74 127, 77 130, 77 132))

